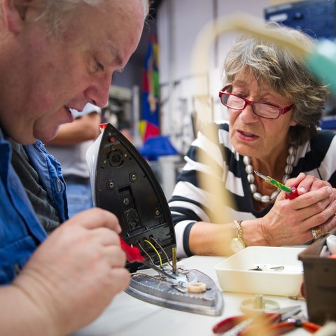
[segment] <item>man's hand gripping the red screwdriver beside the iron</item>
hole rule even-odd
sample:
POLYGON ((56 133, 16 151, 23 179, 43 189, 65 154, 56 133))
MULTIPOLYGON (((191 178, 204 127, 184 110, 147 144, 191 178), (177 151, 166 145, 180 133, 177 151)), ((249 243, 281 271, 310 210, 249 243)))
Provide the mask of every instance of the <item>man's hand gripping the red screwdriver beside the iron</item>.
POLYGON ((118 232, 118 218, 109 211, 83 211, 52 232, 13 281, 58 335, 93 321, 127 288, 118 232))

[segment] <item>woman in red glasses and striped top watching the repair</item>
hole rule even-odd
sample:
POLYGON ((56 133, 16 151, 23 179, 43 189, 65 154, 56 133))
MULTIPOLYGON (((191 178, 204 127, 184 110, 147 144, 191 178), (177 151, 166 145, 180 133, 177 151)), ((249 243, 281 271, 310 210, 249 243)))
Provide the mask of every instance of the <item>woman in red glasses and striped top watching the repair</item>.
MULTIPOLYGON (((300 31, 273 29, 312 43, 300 31)), ((311 76, 303 57, 247 35, 229 50, 223 73, 220 97, 229 123, 199 132, 169 201, 178 256, 304 244, 335 228, 336 138, 317 130, 327 87, 311 76), (286 199, 254 171, 296 187, 299 196, 286 199), (215 207, 200 175, 232 202, 215 207), (227 221, 216 223, 218 212, 227 221)))

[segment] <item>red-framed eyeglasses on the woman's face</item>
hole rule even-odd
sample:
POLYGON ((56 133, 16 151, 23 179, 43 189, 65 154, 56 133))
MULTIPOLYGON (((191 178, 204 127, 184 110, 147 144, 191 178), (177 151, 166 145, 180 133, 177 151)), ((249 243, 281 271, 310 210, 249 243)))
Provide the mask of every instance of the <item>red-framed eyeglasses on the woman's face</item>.
POLYGON ((246 105, 251 105, 253 113, 262 118, 279 118, 281 114, 287 113, 294 107, 294 104, 281 108, 273 104, 251 102, 251 100, 232 94, 230 90, 232 90, 232 85, 223 87, 219 92, 219 97, 223 105, 232 110, 244 110, 246 105))

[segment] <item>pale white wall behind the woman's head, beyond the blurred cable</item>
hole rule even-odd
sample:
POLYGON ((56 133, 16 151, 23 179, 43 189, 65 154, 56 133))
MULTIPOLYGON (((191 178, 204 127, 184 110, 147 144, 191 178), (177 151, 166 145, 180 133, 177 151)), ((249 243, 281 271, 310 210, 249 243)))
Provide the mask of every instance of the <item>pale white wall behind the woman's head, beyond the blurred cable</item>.
MULTIPOLYGON (((276 4, 272 1, 272 6, 276 4)), ((205 119, 226 118, 218 99, 221 65, 237 31, 227 32, 214 40, 209 50, 207 71, 202 73, 191 64, 198 34, 214 18, 225 20, 237 13, 248 13, 263 19, 263 9, 267 6, 271 6, 269 0, 162 1, 157 13, 161 130, 162 134, 170 135, 181 153, 185 153, 193 140, 195 113, 202 111, 205 119)))

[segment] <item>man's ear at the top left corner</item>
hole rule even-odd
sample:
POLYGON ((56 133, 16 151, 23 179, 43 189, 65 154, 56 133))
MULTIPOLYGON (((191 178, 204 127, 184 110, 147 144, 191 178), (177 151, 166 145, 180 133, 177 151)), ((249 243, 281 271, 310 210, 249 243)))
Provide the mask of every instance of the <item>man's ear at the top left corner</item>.
POLYGON ((7 29, 13 34, 18 34, 25 20, 27 0, 3 0, 1 9, 7 29))

